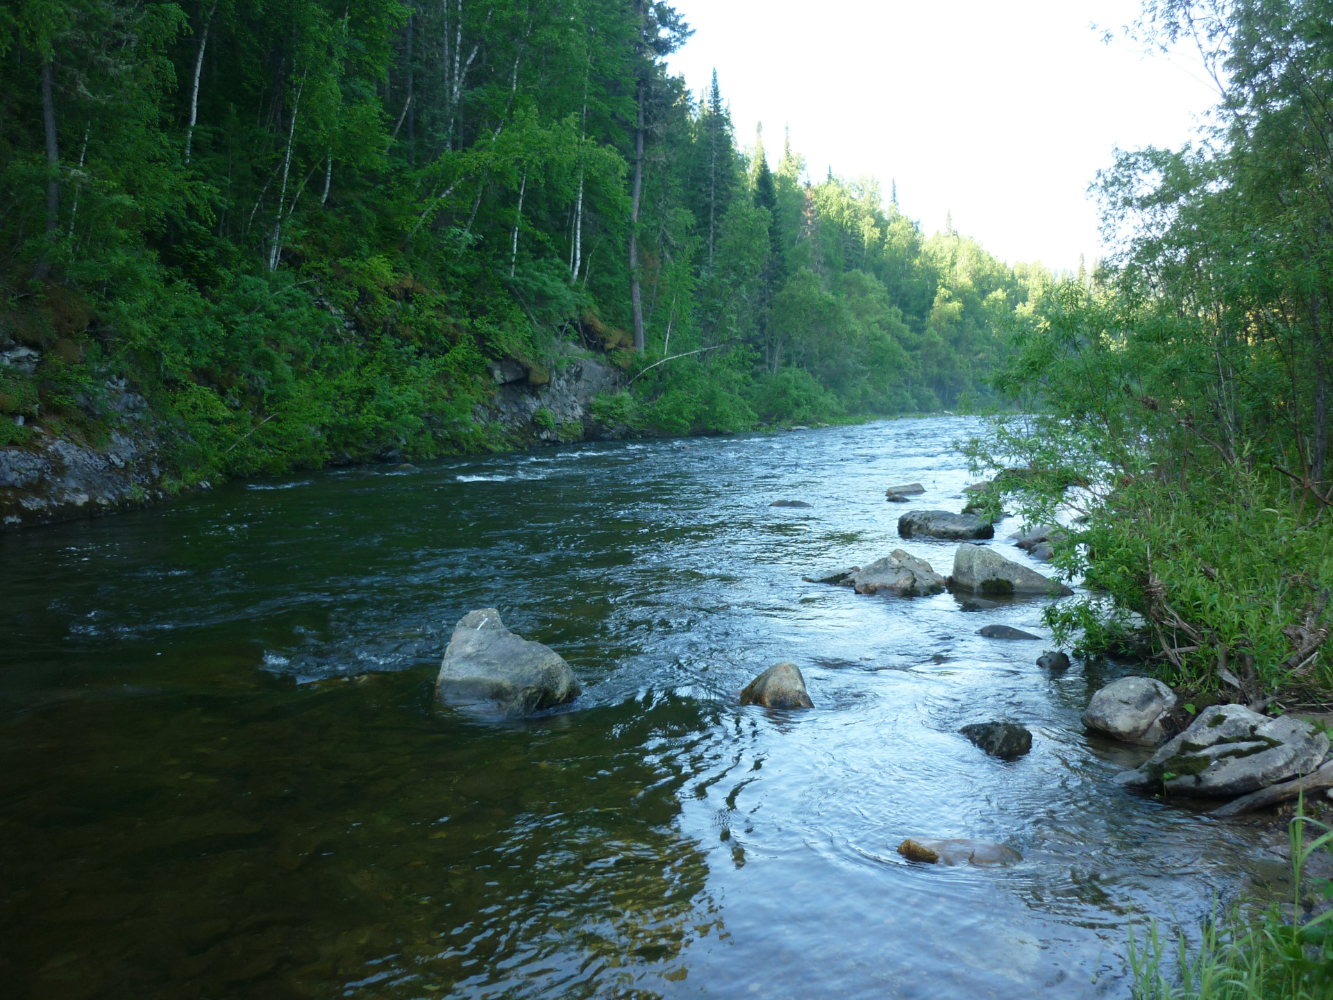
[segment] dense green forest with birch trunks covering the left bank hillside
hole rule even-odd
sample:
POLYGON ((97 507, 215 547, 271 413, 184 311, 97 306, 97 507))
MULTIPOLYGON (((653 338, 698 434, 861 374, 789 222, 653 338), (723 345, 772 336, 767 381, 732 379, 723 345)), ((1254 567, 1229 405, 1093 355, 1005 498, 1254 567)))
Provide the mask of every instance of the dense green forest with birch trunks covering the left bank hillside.
POLYGON ((1046 283, 870 181, 737 148, 665 3, 15 0, 0 12, 0 444, 108 377, 183 475, 499 447, 487 359, 633 375, 620 427, 966 407, 1046 283), (674 357, 649 368, 653 363, 674 357))

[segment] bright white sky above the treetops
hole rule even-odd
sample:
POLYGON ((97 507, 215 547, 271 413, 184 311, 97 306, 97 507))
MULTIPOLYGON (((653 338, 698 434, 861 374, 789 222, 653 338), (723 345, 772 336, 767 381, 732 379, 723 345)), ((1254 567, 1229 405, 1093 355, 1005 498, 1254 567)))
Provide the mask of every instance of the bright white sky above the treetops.
POLYGON ((1180 145, 1216 92, 1189 55, 1120 35, 1137 0, 674 0, 694 36, 670 57, 697 93, 713 67, 737 139, 782 128, 814 180, 880 179, 926 233, 953 227, 1009 263, 1102 256, 1088 184, 1112 148, 1180 145), (1093 24, 1098 29, 1093 29, 1093 24), (1105 29, 1117 41, 1105 44, 1105 29))

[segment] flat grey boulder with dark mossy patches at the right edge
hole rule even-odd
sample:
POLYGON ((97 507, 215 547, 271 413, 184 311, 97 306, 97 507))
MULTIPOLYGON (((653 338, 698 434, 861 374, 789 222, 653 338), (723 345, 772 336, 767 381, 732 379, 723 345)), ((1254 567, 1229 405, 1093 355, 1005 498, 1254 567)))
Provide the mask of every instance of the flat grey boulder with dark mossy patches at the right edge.
POLYGON ((1137 771, 1116 776, 1130 788, 1161 787, 1197 796, 1237 796, 1314 771, 1329 737, 1304 719, 1269 719, 1245 705, 1205 708, 1185 732, 1137 771))

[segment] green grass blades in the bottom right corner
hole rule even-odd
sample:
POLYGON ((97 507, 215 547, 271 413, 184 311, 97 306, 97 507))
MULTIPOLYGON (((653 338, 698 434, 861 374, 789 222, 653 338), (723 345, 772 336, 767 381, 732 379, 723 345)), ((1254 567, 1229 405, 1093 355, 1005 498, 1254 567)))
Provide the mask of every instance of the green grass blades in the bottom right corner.
POLYGON ((1333 997, 1333 909, 1300 923, 1309 891, 1333 896, 1326 880, 1309 880, 1305 868, 1321 851, 1333 852, 1333 829, 1305 816, 1304 801, 1290 821, 1293 923, 1276 903, 1241 903, 1208 921, 1190 944, 1184 931, 1168 940, 1157 921, 1144 940, 1129 927, 1129 964, 1134 1000, 1328 1000, 1333 997), (1306 825, 1322 832, 1305 843, 1306 825))

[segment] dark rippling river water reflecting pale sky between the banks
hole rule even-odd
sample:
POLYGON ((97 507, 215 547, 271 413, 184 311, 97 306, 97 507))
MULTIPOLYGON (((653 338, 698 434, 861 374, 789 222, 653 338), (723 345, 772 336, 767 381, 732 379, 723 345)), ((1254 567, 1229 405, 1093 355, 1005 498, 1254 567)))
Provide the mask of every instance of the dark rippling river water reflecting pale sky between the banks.
POLYGON ((1274 867, 1257 835, 1110 785, 1141 755, 1078 725, 1105 676, 974 635, 1042 632, 1041 601, 801 581, 902 544, 886 485, 958 509, 968 427, 328 472, 0 536, 0 992, 1125 996, 1130 909, 1198 920, 1274 867), (432 707, 488 605, 575 667, 572 711, 432 707), (786 659, 814 711, 734 704, 786 659), (957 735, 994 717, 1029 756, 957 735), (1026 860, 913 865, 906 836, 1026 860))

